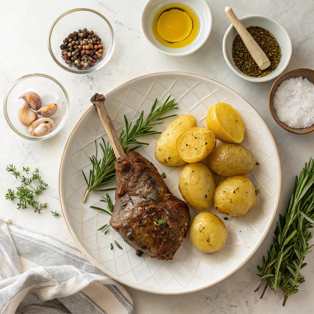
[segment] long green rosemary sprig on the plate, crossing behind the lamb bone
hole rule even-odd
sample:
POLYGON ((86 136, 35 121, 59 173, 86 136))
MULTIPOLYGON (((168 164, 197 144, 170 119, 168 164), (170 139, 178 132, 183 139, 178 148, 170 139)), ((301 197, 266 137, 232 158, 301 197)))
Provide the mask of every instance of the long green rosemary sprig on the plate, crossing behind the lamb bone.
MULTIPOLYGON (((123 129, 120 133, 119 140, 122 144, 122 147, 124 151, 127 151, 129 149, 129 145, 136 145, 132 147, 129 150, 135 150, 143 145, 148 145, 148 143, 140 142, 137 140, 140 136, 145 135, 153 135, 153 134, 159 134, 161 132, 157 132, 152 130, 153 126, 156 124, 162 124, 162 120, 166 118, 170 118, 176 115, 170 115, 162 118, 158 118, 158 116, 164 114, 165 112, 177 109, 176 103, 174 103, 174 99, 169 101, 170 96, 166 99, 164 104, 156 109, 156 106, 158 104, 158 100, 156 99, 154 101, 154 104, 150 110, 149 115, 147 116, 146 120, 144 120, 144 111, 140 114, 139 118, 135 122, 135 124, 132 126, 132 122, 129 123, 127 121, 127 117, 124 116, 125 120, 125 130, 123 129)), ((92 169, 89 171, 89 178, 85 176, 83 170, 83 176, 85 178, 87 188, 85 191, 85 196, 83 203, 86 202, 86 198, 90 191, 108 191, 112 189, 101 189, 99 188, 102 185, 105 185, 107 183, 111 183, 111 180, 115 178, 115 167, 114 167, 114 161, 116 160, 115 154, 113 152, 112 147, 109 145, 109 142, 106 143, 105 140, 102 138, 103 143, 100 143, 100 147, 102 149, 102 152, 104 154, 104 157, 100 160, 97 159, 97 144, 96 145, 96 155, 93 155, 92 157, 89 157, 91 163, 92 163, 92 169)))

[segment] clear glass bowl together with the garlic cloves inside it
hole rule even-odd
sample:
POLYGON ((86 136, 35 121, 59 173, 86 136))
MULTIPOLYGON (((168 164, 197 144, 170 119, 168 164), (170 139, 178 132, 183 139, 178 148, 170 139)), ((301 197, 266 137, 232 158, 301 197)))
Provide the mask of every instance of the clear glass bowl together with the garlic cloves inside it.
POLYGON ((3 102, 4 117, 19 136, 33 141, 51 138, 67 121, 70 100, 53 77, 33 73, 17 79, 3 102))

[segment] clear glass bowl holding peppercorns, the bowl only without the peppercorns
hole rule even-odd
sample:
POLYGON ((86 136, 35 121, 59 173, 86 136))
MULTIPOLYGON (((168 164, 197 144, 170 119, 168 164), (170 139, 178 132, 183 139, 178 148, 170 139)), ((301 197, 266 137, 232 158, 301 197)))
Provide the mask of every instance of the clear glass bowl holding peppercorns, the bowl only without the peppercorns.
POLYGON ((61 68, 72 73, 86 74, 102 68, 110 60, 114 47, 115 35, 109 21, 103 15, 91 9, 78 8, 63 13, 53 22, 48 35, 48 49, 52 59, 61 68), (78 69, 70 67, 62 59, 60 45, 63 44, 64 38, 70 33, 84 28, 93 30, 100 37, 104 52, 102 58, 93 66, 78 69))

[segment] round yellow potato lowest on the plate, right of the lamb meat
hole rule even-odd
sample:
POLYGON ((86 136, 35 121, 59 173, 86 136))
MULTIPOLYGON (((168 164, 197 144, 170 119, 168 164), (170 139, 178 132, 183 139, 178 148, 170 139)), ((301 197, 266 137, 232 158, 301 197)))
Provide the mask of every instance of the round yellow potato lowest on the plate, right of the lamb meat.
POLYGON ((213 253, 220 250, 227 236, 225 224, 213 213, 200 213, 192 221, 190 239, 192 244, 202 252, 213 253))

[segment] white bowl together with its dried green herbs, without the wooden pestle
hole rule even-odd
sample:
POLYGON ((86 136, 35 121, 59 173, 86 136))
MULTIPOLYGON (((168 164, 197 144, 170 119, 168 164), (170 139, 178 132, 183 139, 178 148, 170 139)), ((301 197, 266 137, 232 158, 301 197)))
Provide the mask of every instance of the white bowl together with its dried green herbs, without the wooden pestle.
POLYGON ((247 15, 239 19, 265 52, 270 67, 261 70, 238 32, 231 24, 223 40, 225 61, 231 70, 251 82, 266 82, 284 72, 290 62, 292 43, 288 32, 274 19, 263 15, 247 15))

